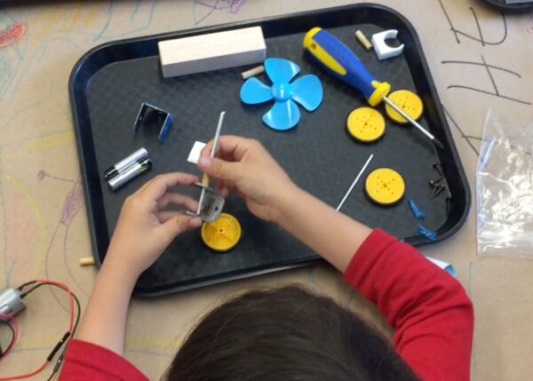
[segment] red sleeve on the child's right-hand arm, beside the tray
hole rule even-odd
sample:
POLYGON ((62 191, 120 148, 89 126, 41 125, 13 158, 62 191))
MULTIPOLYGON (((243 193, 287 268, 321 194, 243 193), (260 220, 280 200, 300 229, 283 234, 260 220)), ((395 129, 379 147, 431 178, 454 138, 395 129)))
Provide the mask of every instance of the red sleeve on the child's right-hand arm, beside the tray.
POLYGON ((407 243, 373 231, 345 279, 396 329, 393 345, 423 380, 468 380, 473 306, 459 282, 407 243))

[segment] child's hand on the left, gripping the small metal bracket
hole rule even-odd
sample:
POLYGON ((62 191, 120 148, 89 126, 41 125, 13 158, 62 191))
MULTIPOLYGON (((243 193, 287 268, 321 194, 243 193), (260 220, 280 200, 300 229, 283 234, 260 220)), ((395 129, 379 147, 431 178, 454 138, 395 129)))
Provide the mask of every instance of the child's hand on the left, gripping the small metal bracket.
POLYGON ((114 266, 129 276, 138 277, 176 235, 201 226, 200 218, 190 217, 182 211, 164 210, 170 205, 196 210, 197 201, 168 188, 190 186, 197 181, 197 177, 187 173, 167 173, 148 181, 131 194, 123 204, 104 266, 114 266))

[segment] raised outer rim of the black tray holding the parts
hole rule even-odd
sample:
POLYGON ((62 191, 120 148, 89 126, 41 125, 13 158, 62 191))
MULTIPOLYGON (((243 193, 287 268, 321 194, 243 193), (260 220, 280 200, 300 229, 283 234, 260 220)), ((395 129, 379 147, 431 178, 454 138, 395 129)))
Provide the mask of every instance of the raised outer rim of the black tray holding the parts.
MULTIPOLYGON (((463 196, 465 199, 465 209, 461 211, 460 217, 457 219, 457 222, 454 226, 451 226, 448 230, 446 230, 442 234, 441 233, 438 234, 437 239, 435 241, 426 240, 422 238, 421 236, 414 236, 414 237, 407 238, 405 242, 408 242, 413 246, 422 246, 422 245, 426 245, 430 243, 442 242, 443 240, 446 240, 447 238, 449 238, 451 235, 456 234, 457 231, 462 226, 465 225, 466 218, 468 217, 469 211, 472 206, 472 194, 471 194, 468 180, 465 175, 463 164, 460 160, 460 156, 458 155, 455 140, 453 139, 453 136, 449 129, 448 119, 446 118, 446 115, 444 114, 444 111, 442 109, 442 102, 439 97, 438 91, 436 90, 433 75, 431 75, 431 70, 429 68, 429 65, 427 64, 426 54, 424 53, 424 49, 422 48, 422 45, 420 43, 417 30, 410 23, 410 21, 402 15, 402 13, 397 12, 393 8, 388 7, 386 5, 373 4, 373 3, 346 4, 346 5, 340 5, 340 6, 335 6, 335 7, 320 8, 320 9, 315 9, 311 11, 292 12, 292 13, 287 13, 287 14, 282 14, 282 15, 274 15, 274 16, 269 16, 266 18, 240 20, 240 21, 217 24, 217 25, 212 25, 212 26, 207 26, 207 27, 202 27, 202 28, 187 28, 183 30, 158 33, 158 34, 148 35, 148 36, 137 36, 137 37, 119 39, 119 40, 114 40, 114 41, 108 41, 104 44, 99 44, 91 48, 91 50, 89 50, 88 52, 85 52, 80 57, 80 59, 76 61, 76 64, 73 67, 70 73, 70 76, 69 76, 69 80, 68 80, 68 95, 69 95, 70 106, 71 106, 71 111, 73 115, 73 123, 75 127, 75 132, 76 132, 76 147, 77 147, 78 157, 80 161, 80 169, 82 171, 82 174, 84 175, 83 176, 84 199, 87 205, 87 218, 88 218, 89 229, 91 233, 90 236, 91 236, 92 256, 95 259, 95 265, 97 266, 97 268, 101 266, 99 252, 100 250, 103 251, 107 249, 110 236, 109 234, 107 234, 107 221, 105 221, 105 224, 103 224, 104 226, 101 226, 100 224, 100 228, 98 230, 106 231, 107 242, 101 242, 101 239, 97 237, 97 234, 98 234, 98 232, 96 231, 97 221, 94 215, 95 200, 93 200, 93 197, 91 196, 91 192, 90 192, 91 185, 88 184, 89 178, 87 175, 88 175, 89 168, 88 168, 88 163, 86 161, 86 157, 84 155, 85 149, 87 148, 85 146, 87 144, 90 144, 92 146, 93 141, 91 139, 91 142, 84 142, 81 137, 82 126, 80 125, 80 119, 79 119, 80 110, 78 109, 78 102, 76 101, 77 98, 76 98, 76 89, 75 89, 76 83, 79 80, 79 75, 83 74, 81 70, 84 68, 84 65, 86 64, 89 58, 91 58, 93 55, 101 51, 107 50, 109 48, 117 48, 118 46, 123 46, 126 44, 133 44, 133 43, 139 44, 142 42, 151 42, 153 40, 163 41, 165 39, 184 37, 184 36, 197 36, 197 35, 201 35, 205 33, 212 33, 212 32, 218 32, 218 31, 235 29, 235 28, 262 26, 262 24, 266 22, 290 20, 290 19, 295 19, 295 18, 304 17, 304 16, 311 17, 314 15, 322 15, 323 13, 327 13, 327 12, 342 12, 342 11, 348 11, 348 10, 354 11, 354 9, 358 9, 358 8, 373 8, 381 12, 391 13, 392 15, 394 15, 394 17, 397 20, 399 20, 400 22, 402 22, 402 24, 404 24, 405 28, 409 30, 411 36, 413 37, 413 43, 415 44, 415 48, 418 51, 420 65, 424 70, 424 75, 426 76, 426 81, 427 81, 427 84, 429 85, 429 90, 431 92, 432 98, 435 101, 436 113, 438 115, 439 120, 442 121, 442 133, 446 136, 449 153, 452 155, 453 161, 457 166, 457 175, 461 181, 461 184, 463 185, 462 190, 464 192, 463 196), (105 246, 105 248, 103 248, 103 246, 105 246)), ((280 34, 280 35, 282 36, 284 34, 280 34)), ((266 37, 266 39, 267 38, 268 37, 266 37)), ((120 62, 120 61, 123 61, 123 60, 114 60, 114 61, 108 62, 105 65, 102 65, 101 67, 98 67, 97 70, 95 70, 91 74, 91 76, 87 79, 87 82, 84 83, 85 84, 84 88, 86 89, 86 84, 89 83, 89 81, 91 80, 91 77, 96 75, 100 69, 102 69, 103 67, 107 67, 108 65, 112 65, 115 62, 120 62)), ((84 103, 86 103, 87 99, 86 97, 83 97, 82 100, 84 101, 84 103)), ((87 107, 87 112, 88 112, 88 107, 87 107)), ((85 116, 88 117, 88 115, 85 115, 85 116)), ((91 126, 91 123, 89 123, 89 126, 91 126)), ((98 184, 98 187, 96 188, 98 188, 98 190, 101 191, 100 184, 98 184)), ((176 292, 179 290, 192 290, 195 288, 204 287, 204 286, 208 286, 208 285, 216 284, 220 282, 229 282, 229 281, 234 281, 236 279, 248 278, 248 277, 259 275, 259 274, 267 274, 267 273, 273 273, 273 272, 282 271, 282 270, 290 269, 290 268, 309 266, 319 261, 322 261, 322 258, 318 255, 315 255, 314 257, 308 256, 304 259, 296 258, 286 263, 280 263, 278 266, 263 268, 259 270, 251 270, 251 272, 244 273, 244 274, 229 274, 223 278, 218 278, 215 280, 208 279, 203 282, 190 283, 185 286, 167 288, 165 290, 156 290, 156 291, 149 291, 149 292, 142 292, 142 291, 139 292, 139 290, 134 290, 134 295, 138 297, 161 296, 161 295, 176 292), (291 263, 291 262, 295 262, 295 263, 291 263)))

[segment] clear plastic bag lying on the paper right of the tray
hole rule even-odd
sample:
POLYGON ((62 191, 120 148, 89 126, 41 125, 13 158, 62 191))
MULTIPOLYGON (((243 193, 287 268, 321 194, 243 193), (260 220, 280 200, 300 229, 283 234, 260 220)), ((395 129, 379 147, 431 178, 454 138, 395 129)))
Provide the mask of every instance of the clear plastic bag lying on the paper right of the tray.
POLYGON ((533 258, 533 121, 487 115, 476 171, 477 249, 533 258))

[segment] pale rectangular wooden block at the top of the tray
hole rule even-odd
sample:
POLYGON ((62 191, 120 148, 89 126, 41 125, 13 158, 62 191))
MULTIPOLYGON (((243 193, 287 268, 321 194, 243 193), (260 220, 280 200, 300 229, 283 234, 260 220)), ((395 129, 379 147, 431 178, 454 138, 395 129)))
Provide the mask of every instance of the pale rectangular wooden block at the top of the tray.
POLYGON ((263 62, 267 45, 260 27, 176 38, 157 44, 163 77, 263 62))

